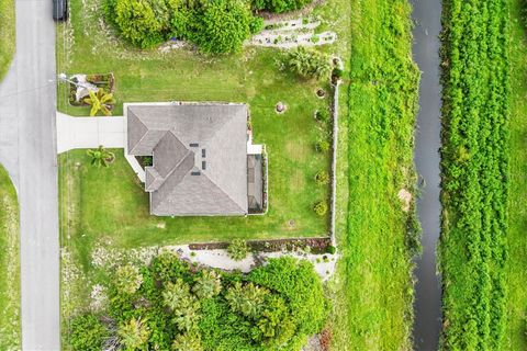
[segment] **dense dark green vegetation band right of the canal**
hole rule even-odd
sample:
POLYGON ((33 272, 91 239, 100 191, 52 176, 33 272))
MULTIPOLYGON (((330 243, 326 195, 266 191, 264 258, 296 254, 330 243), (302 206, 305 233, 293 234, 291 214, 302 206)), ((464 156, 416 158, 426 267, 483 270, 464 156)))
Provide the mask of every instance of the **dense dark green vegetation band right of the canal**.
POLYGON ((444 2, 442 348, 498 350, 506 324, 508 0, 444 2))

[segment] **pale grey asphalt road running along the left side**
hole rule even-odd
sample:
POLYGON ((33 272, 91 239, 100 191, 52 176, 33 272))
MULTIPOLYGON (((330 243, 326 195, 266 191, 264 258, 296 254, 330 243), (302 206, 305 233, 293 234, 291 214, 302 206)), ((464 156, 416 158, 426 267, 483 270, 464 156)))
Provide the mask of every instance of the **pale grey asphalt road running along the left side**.
POLYGON ((51 0, 15 2, 16 54, 0 83, 0 162, 20 202, 22 348, 58 351, 55 24, 51 0))

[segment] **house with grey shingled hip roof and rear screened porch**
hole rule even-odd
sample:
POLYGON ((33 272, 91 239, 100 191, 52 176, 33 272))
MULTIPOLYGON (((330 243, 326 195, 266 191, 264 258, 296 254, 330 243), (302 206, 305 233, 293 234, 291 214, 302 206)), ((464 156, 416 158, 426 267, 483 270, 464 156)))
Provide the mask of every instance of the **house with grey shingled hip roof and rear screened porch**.
POLYGON ((126 150, 145 168, 150 214, 234 216, 261 210, 261 146, 234 103, 125 104, 126 150))

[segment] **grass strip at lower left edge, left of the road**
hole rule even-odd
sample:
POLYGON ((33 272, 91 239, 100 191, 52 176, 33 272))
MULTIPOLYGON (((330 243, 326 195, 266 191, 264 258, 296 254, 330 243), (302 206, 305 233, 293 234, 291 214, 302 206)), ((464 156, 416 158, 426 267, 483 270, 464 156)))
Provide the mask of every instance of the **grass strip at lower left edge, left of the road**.
POLYGON ((0 166, 0 349, 20 350, 19 204, 0 166))

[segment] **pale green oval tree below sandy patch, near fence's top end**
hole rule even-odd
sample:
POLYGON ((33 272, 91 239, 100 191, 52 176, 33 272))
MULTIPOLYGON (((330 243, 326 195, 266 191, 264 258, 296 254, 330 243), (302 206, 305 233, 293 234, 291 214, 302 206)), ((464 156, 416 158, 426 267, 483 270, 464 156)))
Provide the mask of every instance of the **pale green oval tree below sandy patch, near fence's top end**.
POLYGON ((303 78, 321 79, 329 77, 332 64, 329 58, 317 50, 299 46, 285 56, 287 66, 303 78))

